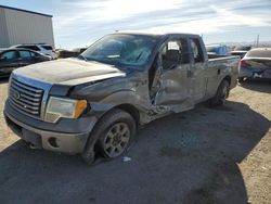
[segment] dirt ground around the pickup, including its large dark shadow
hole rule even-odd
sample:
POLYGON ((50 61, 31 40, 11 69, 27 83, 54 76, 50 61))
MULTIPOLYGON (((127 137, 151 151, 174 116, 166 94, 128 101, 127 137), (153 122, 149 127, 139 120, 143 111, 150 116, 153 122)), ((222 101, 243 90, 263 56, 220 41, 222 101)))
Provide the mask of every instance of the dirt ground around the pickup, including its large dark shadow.
POLYGON ((4 124, 0 81, 0 203, 271 203, 271 84, 248 81, 224 107, 158 119, 127 156, 89 167, 30 150, 4 124))

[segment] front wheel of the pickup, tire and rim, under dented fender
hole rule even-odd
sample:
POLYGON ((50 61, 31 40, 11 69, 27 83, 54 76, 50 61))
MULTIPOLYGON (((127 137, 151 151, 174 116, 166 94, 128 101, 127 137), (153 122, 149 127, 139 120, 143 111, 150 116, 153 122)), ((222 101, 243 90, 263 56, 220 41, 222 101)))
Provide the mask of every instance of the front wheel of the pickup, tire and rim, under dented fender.
MULTIPOLYGON (((119 109, 106 113, 94 127, 91 138, 96 138, 95 148, 105 158, 116 158, 122 155, 132 142, 137 131, 133 117, 119 109)), ((89 141, 81 154, 85 162, 94 162, 93 144, 89 141)))

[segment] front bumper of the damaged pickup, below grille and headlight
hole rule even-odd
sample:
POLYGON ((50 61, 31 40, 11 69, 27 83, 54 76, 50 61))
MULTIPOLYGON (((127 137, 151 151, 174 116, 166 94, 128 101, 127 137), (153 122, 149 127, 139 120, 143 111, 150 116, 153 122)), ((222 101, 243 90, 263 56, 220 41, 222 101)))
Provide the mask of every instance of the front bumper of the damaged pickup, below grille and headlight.
POLYGON ((90 132, 96 123, 94 117, 88 117, 74 120, 64 119, 59 124, 50 124, 17 112, 14 115, 13 111, 7 102, 4 110, 7 124, 20 138, 38 148, 68 154, 83 151, 90 132))

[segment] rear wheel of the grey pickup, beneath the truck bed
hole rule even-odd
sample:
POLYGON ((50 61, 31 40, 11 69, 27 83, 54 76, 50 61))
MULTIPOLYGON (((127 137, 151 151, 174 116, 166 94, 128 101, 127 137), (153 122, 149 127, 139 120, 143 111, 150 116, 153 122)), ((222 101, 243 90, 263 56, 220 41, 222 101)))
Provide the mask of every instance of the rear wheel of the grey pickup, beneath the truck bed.
POLYGON ((209 105, 210 106, 222 106, 225 102, 225 99, 229 97, 230 93, 230 82, 223 79, 216 92, 216 95, 210 99, 209 105))

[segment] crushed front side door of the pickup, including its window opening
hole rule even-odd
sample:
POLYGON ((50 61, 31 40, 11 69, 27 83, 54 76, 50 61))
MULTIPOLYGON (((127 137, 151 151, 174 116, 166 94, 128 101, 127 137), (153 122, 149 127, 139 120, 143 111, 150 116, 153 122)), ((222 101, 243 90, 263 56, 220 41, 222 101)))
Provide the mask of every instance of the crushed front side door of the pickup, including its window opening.
MULTIPOLYGON (((164 43, 158 58, 160 75, 152 88, 156 88, 155 105, 191 106, 191 79, 188 39, 171 39, 164 43)), ((180 110, 180 111, 181 111, 180 110)))

